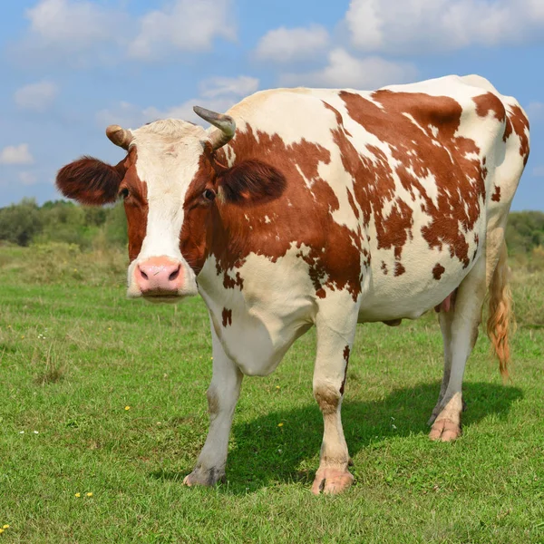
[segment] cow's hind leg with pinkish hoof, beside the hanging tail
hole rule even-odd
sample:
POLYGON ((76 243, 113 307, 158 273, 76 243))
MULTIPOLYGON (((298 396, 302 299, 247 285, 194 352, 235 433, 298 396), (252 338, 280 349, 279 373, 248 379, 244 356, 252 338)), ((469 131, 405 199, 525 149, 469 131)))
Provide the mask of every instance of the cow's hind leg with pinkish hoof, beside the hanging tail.
POLYGON ((485 256, 481 256, 457 289, 448 314, 440 317, 444 340, 444 376, 430 423, 432 440, 449 442, 461 435, 462 377, 478 338, 481 306, 486 292, 485 256))

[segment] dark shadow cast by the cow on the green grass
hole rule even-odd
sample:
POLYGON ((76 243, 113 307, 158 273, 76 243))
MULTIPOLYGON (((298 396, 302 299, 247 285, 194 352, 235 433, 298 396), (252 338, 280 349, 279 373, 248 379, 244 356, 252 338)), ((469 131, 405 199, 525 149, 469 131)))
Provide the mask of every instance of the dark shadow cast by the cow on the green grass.
MULTIPOLYGON (((439 390, 439 383, 418 384, 371 402, 350 402, 348 394, 342 406, 342 421, 350 454, 355 456, 371 442, 388 438, 421 433, 422 440, 427 440, 426 421, 439 390)), ((463 396, 467 402, 463 413, 466 429, 491 414, 504 418, 511 404, 523 394, 518 387, 469 382, 463 384, 463 396)), ((235 445, 228 453, 227 464, 229 484, 220 490, 245 494, 277 481, 301 481, 309 485, 319 462, 322 432, 323 418, 316 403, 270 412, 248 423, 236 423, 235 417, 232 430, 235 445), (300 470, 306 464, 308 469, 300 470)), ((192 468, 182 472, 156 471, 151 477, 182 481, 192 468)))

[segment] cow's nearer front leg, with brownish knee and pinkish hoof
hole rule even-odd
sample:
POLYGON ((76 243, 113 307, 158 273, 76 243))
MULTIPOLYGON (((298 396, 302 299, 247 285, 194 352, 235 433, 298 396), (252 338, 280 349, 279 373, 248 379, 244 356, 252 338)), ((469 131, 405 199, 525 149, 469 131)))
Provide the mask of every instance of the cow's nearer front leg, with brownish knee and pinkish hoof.
MULTIPOLYGON (((342 307, 342 306, 340 306, 342 307)), ((345 308, 345 306, 344 306, 345 308)), ((349 316, 317 316, 317 354, 314 396, 323 413, 321 458, 312 491, 339 493, 354 477, 347 470, 349 454, 340 410, 350 350, 355 336, 356 311, 349 316)))

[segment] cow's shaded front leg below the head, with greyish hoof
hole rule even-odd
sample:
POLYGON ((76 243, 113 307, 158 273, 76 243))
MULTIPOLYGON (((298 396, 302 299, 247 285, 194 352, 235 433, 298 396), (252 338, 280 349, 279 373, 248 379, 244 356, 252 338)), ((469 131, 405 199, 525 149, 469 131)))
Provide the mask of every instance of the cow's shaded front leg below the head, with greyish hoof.
POLYGON ((207 392, 209 431, 197 466, 183 480, 189 486, 212 486, 225 477, 228 435, 243 377, 238 366, 225 354, 213 326, 211 329, 213 375, 207 392))

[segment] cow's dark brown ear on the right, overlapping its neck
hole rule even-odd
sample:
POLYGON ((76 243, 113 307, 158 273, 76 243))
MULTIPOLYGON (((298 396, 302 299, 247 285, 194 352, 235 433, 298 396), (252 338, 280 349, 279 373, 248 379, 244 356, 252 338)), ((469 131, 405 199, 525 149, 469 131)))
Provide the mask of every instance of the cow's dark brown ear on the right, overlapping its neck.
POLYGON ((286 189, 286 177, 260 160, 244 160, 218 175, 223 199, 240 206, 277 199, 286 189))

